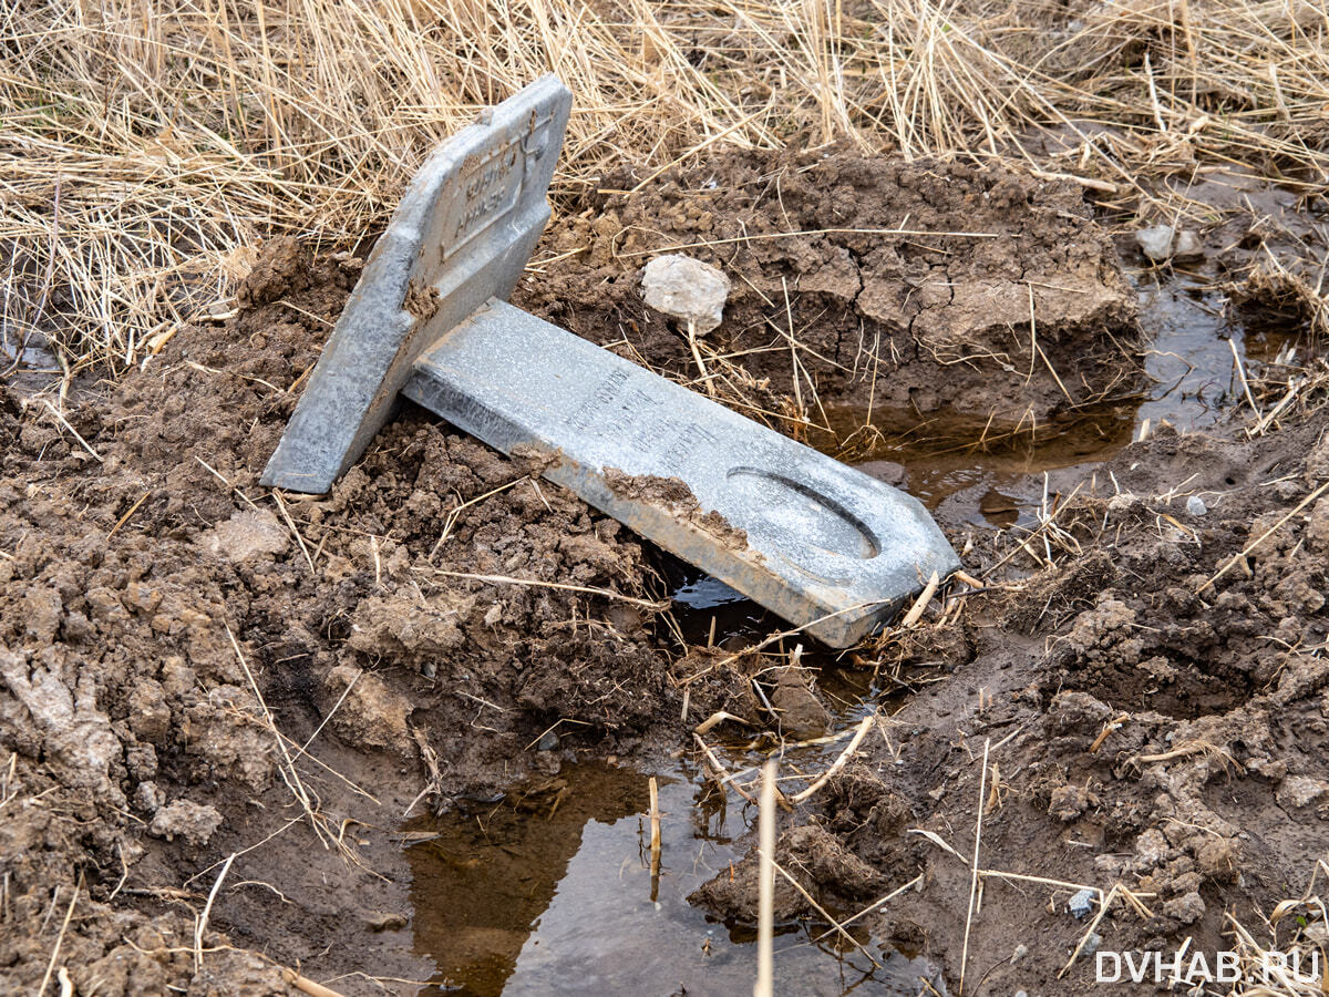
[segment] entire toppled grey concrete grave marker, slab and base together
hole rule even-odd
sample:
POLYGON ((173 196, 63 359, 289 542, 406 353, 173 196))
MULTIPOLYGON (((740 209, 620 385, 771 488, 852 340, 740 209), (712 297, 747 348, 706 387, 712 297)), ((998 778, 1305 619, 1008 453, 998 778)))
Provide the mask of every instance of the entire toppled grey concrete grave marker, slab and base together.
POLYGON ((552 76, 439 149, 379 239, 263 483, 327 492, 399 393, 530 447, 589 504, 844 647, 960 566, 913 497, 506 303, 549 219, 552 76))

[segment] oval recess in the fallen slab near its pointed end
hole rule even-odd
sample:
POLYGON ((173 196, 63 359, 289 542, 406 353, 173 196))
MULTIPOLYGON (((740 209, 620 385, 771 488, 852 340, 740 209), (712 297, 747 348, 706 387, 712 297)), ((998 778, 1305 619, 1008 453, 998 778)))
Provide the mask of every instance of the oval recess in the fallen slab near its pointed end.
POLYGON ((835 498, 824 496, 801 481, 760 468, 734 468, 730 487, 748 500, 748 514, 742 526, 759 540, 793 561, 800 552, 811 554, 807 568, 827 554, 868 560, 876 557, 877 537, 863 520, 835 498))

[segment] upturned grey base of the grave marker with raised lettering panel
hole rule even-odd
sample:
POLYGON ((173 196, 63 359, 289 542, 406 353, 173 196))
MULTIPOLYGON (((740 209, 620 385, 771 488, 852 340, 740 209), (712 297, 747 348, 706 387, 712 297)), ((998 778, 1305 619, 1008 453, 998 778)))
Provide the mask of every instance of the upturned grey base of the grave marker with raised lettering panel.
POLYGON ((549 222, 571 100, 546 76, 429 157, 375 243, 263 484, 327 492, 387 421, 420 351, 508 298, 549 222))

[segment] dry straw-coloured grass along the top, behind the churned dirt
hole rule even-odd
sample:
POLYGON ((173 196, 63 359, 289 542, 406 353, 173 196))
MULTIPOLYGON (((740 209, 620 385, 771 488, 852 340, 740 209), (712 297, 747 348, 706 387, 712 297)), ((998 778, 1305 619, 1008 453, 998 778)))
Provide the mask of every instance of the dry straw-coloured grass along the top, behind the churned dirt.
POLYGON ((141 362, 264 234, 360 239, 431 146, 548 70, 577 94, 565 206, 716 141, 1017 157, 1127 198, 1203 161, 1316 182, 1326 32, 1304 0, 15 0, 0 347, 141 362))

